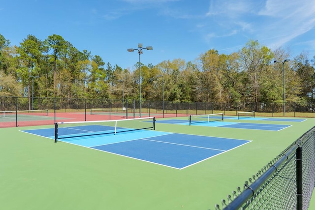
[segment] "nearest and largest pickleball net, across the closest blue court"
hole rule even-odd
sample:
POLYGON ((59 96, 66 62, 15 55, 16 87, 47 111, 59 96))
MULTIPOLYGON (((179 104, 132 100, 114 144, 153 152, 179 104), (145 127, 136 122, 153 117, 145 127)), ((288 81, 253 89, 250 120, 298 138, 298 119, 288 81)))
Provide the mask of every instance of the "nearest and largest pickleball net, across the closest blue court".
POLYGON ((143 129, 155 130, 155 117, 133 118, 124 120, 56 122, 55 142, 57 142, 58 139, 93 136, 101 134, 116 134, 119 132, 143 129))

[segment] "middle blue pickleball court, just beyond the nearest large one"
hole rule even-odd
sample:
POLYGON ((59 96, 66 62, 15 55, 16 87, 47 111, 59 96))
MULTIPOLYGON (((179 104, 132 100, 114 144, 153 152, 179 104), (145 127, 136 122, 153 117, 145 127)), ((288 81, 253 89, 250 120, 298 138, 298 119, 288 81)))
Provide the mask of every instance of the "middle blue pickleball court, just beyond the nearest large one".
MULTIPOLYGON (((189 125, 188 120, 157 120, 156 123, 189 125)), ((209 127, 226 127, 226 128, 280 131, 292 125, 248 123, 248 122, 247 123, 246 122, 226 122, 226 121, 204 122, 204 121, 194 120, 194 121, 191 121, 191 126, 209 126, 209 127)))

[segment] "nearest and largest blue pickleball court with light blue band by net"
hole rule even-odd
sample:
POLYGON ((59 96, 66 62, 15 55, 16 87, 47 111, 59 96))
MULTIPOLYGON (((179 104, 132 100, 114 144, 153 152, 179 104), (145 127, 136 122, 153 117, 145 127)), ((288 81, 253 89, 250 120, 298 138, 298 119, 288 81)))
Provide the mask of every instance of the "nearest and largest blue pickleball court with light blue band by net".
MULTIPOLYGON (((54 139, 54 128, 23 130, 23 132, 54 139)), ((175 169, 187 168, 251 142, 154 130, 74 137, 58 141, 175 169)))

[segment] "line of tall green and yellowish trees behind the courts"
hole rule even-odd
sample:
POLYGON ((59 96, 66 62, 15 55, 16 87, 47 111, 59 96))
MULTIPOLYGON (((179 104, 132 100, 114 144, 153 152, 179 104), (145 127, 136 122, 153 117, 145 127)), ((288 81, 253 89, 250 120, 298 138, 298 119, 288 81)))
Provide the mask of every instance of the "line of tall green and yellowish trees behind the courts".
POLYGON ((30 98, 33 91, 34 97, 139 100, 141 66, 142 100, 162 101, 164 95, 181 102, 282 102, 285 84, 286 102, 314 101, 315 56, 309 60, 301 52, 283 62, 289 58, 282 48, 249 40, 229 55, 210 49, 194 61, 137 62, 130 70, 79 51, 61 35, 28 35, 12 46, 0 34, 0 96, 30 98))

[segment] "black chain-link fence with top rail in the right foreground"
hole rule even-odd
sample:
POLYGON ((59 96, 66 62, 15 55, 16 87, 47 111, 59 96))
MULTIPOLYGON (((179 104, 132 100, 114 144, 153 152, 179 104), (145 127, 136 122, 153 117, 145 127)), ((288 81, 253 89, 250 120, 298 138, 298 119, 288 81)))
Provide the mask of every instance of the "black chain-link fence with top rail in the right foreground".
POLYGON ((315 127, 215 205, 215 210, 307 210, 315 187, 315 127))

